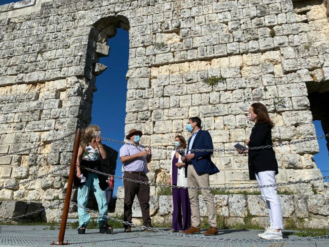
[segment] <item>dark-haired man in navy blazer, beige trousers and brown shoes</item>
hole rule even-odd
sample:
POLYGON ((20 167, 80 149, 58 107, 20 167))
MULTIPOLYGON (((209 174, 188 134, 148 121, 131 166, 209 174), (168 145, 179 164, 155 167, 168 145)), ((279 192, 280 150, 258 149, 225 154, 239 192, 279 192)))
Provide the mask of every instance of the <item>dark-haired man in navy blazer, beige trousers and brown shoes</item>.
MULTIPOLYGON (((214 149, 213 140, 208 131, 201 130, 201 119, 191 117, 186 126, 192 136, 188 142, 188 149, 214 149)), ((209 187, 209 175, 219 172, 215 164, 211 161, 213 151, 188 151, 186 157, 182 157, 185 162, 185 176, 189 187, 209 187)), ((216 209, 214 196, 210 189, 201 189, 201 194, 207 205, 209 223, 211 227, 205 235, 217 235, 216 209)), ((200 233, 200 209, 198 189, 189 189, 191 204, 191 222, 189 230, 183 231, 185 234, 200 233)))

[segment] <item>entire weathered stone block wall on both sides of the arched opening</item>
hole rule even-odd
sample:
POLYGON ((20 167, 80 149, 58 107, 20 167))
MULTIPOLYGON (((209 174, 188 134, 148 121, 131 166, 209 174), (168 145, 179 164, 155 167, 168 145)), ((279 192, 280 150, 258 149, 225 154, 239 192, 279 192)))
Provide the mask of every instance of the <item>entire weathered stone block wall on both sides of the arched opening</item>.
MULTIPOLYGON (((198 115, 215 148, 231 148, 250 135, 245 113, 255 101, 266 104, 275 121, 275 143, 315 136, 308 94, 329 90, 327 16, 326 0, 36 0, 1 6, 0 151, 21 150, 90 123, 96 76, 106 69, 99 58, 108 56, 116 28, 128 30, 130 38, 125 132, 140 129, 143 144, 170 146, 176 133, 188 138, 185 123, 198 115), (204 81, 211 76, 225 80, 208 86, 204 81)), ((72 145, 60 141, 0 158, 0 186, 64 167, 72 145)), ((316 141, 275 151, 277 182, 321 176, 313 161, 316 141)), ((153 150, 150 181, 167 176, 169 153, 153 150)), ((213 156, 221 170, 211 176, 213 186, 252 183, 246 156, 213 156)), ((63 198, 65 181, 48 177, 1 190, 0 198, 47 206, 63 198)), ((308 197, 312 188, 327 193, 322 182, 282 189, 308 197)), ((315 200, 305 200, 311 216, 328 215, 311 210, 315 200)), ((297 202, 287 203, 294 204, 290 217, 297 202)), ((227 205, 225 217, 240 217, 234 204, 227 205)), ((154 216, 164 215, 160 209, 154 216)), ((49 210, 47 218, 60 212, 49 210)))

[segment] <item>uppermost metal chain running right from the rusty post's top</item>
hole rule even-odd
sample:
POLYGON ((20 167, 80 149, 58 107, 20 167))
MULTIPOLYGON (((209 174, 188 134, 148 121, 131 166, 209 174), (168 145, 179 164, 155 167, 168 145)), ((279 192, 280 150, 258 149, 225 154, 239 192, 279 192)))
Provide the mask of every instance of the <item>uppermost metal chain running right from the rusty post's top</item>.
MULTIPOLYGON (((132 146, 139 146, 142 148, 152 148, 152 149, 168 150, 168 151, 177 150, 177 148, 173 148, 173 147, 165 148, 165 147, 156 147, 156 146, 144 146, 141 144, 134 144, 134 143, 118 141, 118 140, 114 140, 114 139, 110 139, 110 138, 106 138, 106 137, 102 137, 102 136, 91 135, 86 132, 82 132, 82 133, 88 134, 93 137, 98 137, 98 138, 101 138, 106 141, 111 141, 111 142, 120 143, 120 144, 124 144, 124 145, 132 145, 132 146)), ((305 138, 302 140, 291 141, 291 142, 287 142, 287 143, 279 143, 279 144, 266 145, 266 146, 260 146, 260 147, 246 147, 246 148, 243 148, 243 150, 255 150, 255 149, 265 149, 265 148, 272 148, 272 147, 282 147, 282 146, 287 146, 287 145, 291 145, 291 144, 297 144, 297 143, 303 143, 303 142, 307 142, 307 141, 317 140, 317 139, 325 138, 325 137, 329 137, 329 134, 326 134, 323 136, 308 137, 308 138, 305 138)), ((237 151, 237 150, 239 150, 239 149, 236 149, 236 148, 223 149, 222 148, 222 149, 187 149, 186 151, 194 151, 194 152, 225 152, 226 151, 226 152, 231 152, 231 151, 237 151)))

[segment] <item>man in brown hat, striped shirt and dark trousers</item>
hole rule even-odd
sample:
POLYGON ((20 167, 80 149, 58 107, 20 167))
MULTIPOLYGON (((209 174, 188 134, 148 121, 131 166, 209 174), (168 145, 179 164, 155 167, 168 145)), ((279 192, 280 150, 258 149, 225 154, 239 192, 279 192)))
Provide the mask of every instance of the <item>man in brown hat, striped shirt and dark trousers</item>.
MULTIPOLYGON (((138 145, 142 132, 136 129, 129 131, 126 139, 129 140, 128 144, 120 148, 120 161, 123 164, 123 178, 133 179, 142 182, 148 182, 147 163, 151 161, 152 153, 151 148, 145 150, 138 145)), ((150 218, 150 185, 140 184, 123 180, 124 187, 124 221, 131 223, 132 221, 132 206, 134 198, 137 195, 140 209, 143 216, 143 224, 146 227, 152 227, 150 218)), ((124 232, 130 233, 131 226, 124 225, 124 232)), ((145 229, 147 232, 152 232, 145 229)))

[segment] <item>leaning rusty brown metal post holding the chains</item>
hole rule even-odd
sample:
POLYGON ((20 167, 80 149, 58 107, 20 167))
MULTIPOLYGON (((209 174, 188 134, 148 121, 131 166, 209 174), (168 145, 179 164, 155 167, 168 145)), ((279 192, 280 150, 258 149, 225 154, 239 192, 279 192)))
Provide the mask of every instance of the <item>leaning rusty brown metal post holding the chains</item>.
POLYGON ((64 201, 61 227, 60 227, 60 232, 58 234, 58 242, 57 243, 52 243, 51 245, 65 245, 65 244, 68 244, 68 243, 64 243, 64 235, 65 235, 65 229, 66 229, 68 208, 70 206, 70 200, 71 200, 71 194, 72 194, 75 164, 76 164, 77 158, 78 158, 80 137, 81 137, 81 129, 78 128, 77 131, 75 132, 75 137, 74 137, 73 154, 72 154, 72 159, 71 159, 70 173, 68 175, 68 182, 67 182, 67 188, 66 188, 66 195, 65 195, 65 201, 64 201))

